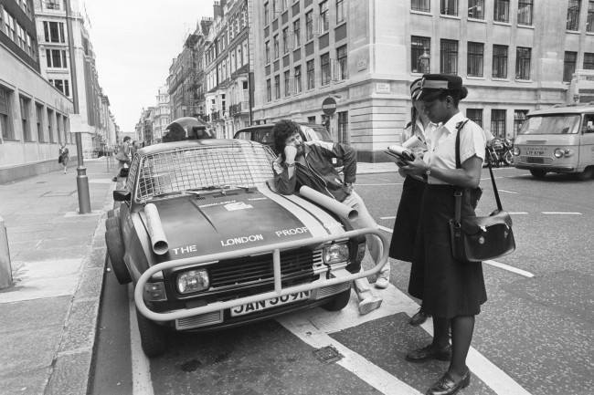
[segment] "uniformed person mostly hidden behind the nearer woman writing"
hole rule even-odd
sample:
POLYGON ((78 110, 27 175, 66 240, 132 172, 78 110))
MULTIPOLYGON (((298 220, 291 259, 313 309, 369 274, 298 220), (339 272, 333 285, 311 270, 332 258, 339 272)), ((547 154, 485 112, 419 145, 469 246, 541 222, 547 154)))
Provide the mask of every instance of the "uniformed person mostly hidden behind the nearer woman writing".
MULTIPOLYGON (((417 138, 419 144, 416 145, 412 151, 415 156, 422 158, 428 147, 428 140, 430 133, 435 130, 438 125, 431 122, 427 114, 425 114, 423 102, 417 99, 420 93, 421 78, 418 78, 410 84, 410 99, 412 100, 412 120, 408 122, 405 130, 402 132, 402 144, 411 138, 417 138)), ((398 162, 397 162, 398 164, 398 162)), ((406 164, 406 163, 405 163, 406 164)), ((401 261, 413 262, 412 255, 414 252, 415 238, 417 229, 419 227, 419 212, 420 201, 425 190, 425 180, 422 177, 412 174, 405 174, 400 172, 405 177, 402 184, 402 194, 400 195, 400 203, 398 203, 398 212, 396 214, 396 221, 394 222, 394 231, 392 232, 392 240, 390 242, 389 256, 401 261)), ((422 267, 416 268, 419 274, 422 273, 422 267)), ((413 269, 411 268, 411 272, 413 269)), ((422 281, 422 275, 419 275, 422 281)), ((376 283, 377 286, 377 283, 376 283)), ((423 311, 422 307, 419 311, 410 318, 408 323, 413 326, 418 326, 425 322, 429 317, 423 311)))

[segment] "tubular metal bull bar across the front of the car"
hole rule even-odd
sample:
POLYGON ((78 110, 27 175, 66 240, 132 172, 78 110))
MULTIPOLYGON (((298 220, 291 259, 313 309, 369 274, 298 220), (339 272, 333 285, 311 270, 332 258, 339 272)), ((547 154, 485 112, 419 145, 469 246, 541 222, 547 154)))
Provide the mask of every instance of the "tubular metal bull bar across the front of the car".
POLYGON ((138 311, 144 316, 154 321, 170 321, 178 318, 186 318, 186 317, 193 317, 200 314, 211 313, 218 310, 223 310, 226 308, 237 307, 240 305, 245 305, 247 303, 254 303, 260 302, 266 299, 270 299, 273 297, 279 296, 286 296, 290 294, 294 294, 297 292, 303 291, 311 291, 316 288, 321 288, 324 286, 334 286, 337 284, 346 283, 348 281, 353 281, 357 278, 366 277, 367 275, 375 275, 379 270, 386 265, 387 263, 387 254, 388 254, 388 240, 387 235, 382 234, 379 229, 374 228, 364 228, 364 229, 355 229, 353 231, 345 232, 344 234, 331 234, 326 236, 317 236, 311 239, 306 240, 294 240, 290 242, 282 242, 276 243, 271 245, 261 245, 258 247, 251 247, 246 248, 238 251, 230 251, 224 253, 217 253, 217 254, 210 254, 204 255, 200 257, 188 257, 183 259, 176 259, 175 261, 167 261, 162 262, 160 264, 154 265, 149 267, 143 275, 140 276, 138 279, 138 283, 134 288, 134 302, 136 303, 136 307, 138 311), (358 272, 355 274, 349 274, 341 277, 334 277, 334 278, 321 278, 318 280, 313 281, 309 284, 301 284, 299 286, 289 286, 283 288, 281 286, 281 250, 300 247, 302 245, 309 245, 309 244, 323 244, 325 242, 333 241, 336 239, 345 239, 351 238, 362 234, 374 234, 379 237, 381 244, 382 244, 382 255, 380 256, 379 260, 377 261, 376 265, 363 272, 358 272), (210 303, 207 306, 202 307, 193 307, 187 308, 183 310, 175 310, 167 313, 156 313, 150 310, 144 304, 143 300, 143 289, 144 284, 147 283, 151 275, 154 275, 157 272, 160 272, 165 269, 171 269, 174 267, 179 266, 186 266, 186 265, 199 265, 205 262, 212 262, 212 261, 219 261, 224 259, 232 259, 232 258, 239 258, 245 255, 256 255, 262 254, 266 252, 272 251, 272 265, 274 269, 274 291, 266 292, 259 295, 252 295, 252 296, 244 296, 239 297, 238 299, 228 300, 225 302, 214 302, 210 303))

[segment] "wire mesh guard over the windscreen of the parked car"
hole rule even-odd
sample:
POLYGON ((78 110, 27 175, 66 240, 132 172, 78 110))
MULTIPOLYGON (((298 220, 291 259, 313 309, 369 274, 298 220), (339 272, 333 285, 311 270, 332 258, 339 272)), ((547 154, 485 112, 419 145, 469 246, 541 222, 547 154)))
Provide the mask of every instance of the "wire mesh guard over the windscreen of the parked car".
POLYGON ((251 187, 273 178, 270 148, 260 144, 196 146, 146 155, 136 200, 208 187, 251 187))

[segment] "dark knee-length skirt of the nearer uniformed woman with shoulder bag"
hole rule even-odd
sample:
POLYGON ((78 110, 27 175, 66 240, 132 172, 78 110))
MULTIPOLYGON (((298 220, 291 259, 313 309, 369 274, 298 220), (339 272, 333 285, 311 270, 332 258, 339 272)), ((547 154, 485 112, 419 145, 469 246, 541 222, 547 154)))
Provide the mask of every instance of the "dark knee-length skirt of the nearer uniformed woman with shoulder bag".
MULTIPOLYGON (((460 262, 451 255, 453 192, 451 185, 425 187, 408 283, 408 293, 422 299, 423 311, 434 317, 475 316, 487 300, 483 264, 460 262)), ((470 202, 462 201, 462 217, 474 216, 470 202)))

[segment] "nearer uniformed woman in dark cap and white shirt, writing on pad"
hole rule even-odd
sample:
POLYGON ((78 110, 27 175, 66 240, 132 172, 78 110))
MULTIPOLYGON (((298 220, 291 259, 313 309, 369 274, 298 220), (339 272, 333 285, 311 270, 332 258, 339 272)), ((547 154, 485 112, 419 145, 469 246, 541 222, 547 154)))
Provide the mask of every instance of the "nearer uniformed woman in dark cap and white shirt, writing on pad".
MULTIPOLYGON (((430 395, 451 395, 469 385, 471 372, 466 366, 466 356, 475 316, 487 300, 483 265, 456 260, 451 255, 450 245, 448 222, 454 216, 454 190, 476 190, 484 161, 483 129, 466 119, 458 109, 458 103, 467 94, 459 76, 423 75, 419 99, 431 122, 441 124, 431 133, 425 156, 408 161, 401 168, 407 175, 426 176, 428 181, 421 201, 419 233, 411 266, 423 268, 422 281, 416 278, 416 271, 411 271, 408 292, 419 297, 423 311, 433 316, 433 341, 427 347, 408 352, 407 359, 411 362, 450 360, 446 373, 428 390, 430 395)), ((472 202, 471 196, 463 202, 462 217, 474 216, 476 201, 472 202)))

